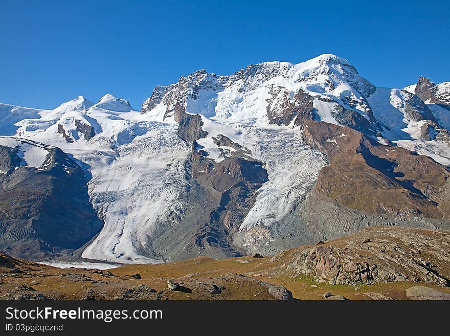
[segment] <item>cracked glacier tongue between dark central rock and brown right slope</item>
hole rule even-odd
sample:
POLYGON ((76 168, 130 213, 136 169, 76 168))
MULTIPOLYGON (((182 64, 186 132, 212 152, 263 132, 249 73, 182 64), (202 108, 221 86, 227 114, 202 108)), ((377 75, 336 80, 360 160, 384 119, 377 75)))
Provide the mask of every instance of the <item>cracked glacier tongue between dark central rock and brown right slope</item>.
POLYGON ((303 142, 302 132, 287 128, 261 129, 241 126, 245 145, 264 162, 268 181, 258 190, 256 202, 240 230, 281 221, 317 180, 327 164, 323 154, 303 142))

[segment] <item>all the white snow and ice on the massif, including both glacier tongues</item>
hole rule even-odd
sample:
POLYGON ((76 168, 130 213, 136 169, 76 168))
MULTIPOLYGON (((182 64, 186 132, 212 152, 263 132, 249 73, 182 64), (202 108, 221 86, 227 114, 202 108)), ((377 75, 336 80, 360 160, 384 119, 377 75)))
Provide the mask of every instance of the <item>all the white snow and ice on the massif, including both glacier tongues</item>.
MULTIPOLYGON (((240 232, 282 222, 304 199, 328 163, 303 141, 302 125, 289 112, 299 93, 314 120, 348 126, 346 116, 353 116, 381 143, 390 141, 450 165, 448 144, 424 140, 425 120, 413 120, 405 110, 414 89, 376 88, 347 60, 331 54, 299 64, 252 64, 230 76, 200 70, 157 86, 141 110, 112 94, 98 103, 78 96, 53 110, 0 104, 0 135, 9 137, 0 138, 0 144, 28 139, 59 147, 78 160, 104 223, 83 258, 158 263, 166 260, 153 250, 154 234, 167 223, 177 225, 190 207, 192 152, 202 150, 220 163, 235 151, 218 145, 219 135, 247 150, 268 175, 240 232), (196 140, 196 147, 177 135, 176 106, 201 118, 207 136, 196 140)), ((449 112, 430 102, 427 106, 447 127, 449 112)), ((21 146, 24 160, 38 165, 43 153, 21 146)))

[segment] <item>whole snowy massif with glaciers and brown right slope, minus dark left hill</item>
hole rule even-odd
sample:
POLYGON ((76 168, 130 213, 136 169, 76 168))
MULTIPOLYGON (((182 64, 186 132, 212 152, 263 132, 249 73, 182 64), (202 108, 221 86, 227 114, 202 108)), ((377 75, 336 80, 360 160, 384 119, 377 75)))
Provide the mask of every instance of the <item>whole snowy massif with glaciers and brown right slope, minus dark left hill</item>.
POLYGON ((374 224, 448 225, 447 84, 379 88, 325 54, 200 70, 156 86, 139 111, 110 94, 54 110, 0 104, 0 135, 61 148, 82 168, 103 222, 84 258, 275 253, 374 224))

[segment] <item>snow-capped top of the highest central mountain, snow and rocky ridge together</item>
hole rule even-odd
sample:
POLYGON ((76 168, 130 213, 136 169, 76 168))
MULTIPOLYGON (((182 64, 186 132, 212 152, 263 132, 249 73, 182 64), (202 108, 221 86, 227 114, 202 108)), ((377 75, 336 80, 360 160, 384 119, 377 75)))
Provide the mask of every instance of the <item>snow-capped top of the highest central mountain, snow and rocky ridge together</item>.
POLYGON ((142 113, 163 121, 184 101, 188 113, 221 123, 287 126, 296 123, 292 107, 307 107, 305 114, 338 124, 342 107, 373 120, 365 97, 374 91, 348 61, 326 54, 299 64, 252 64, 231 76, 200 70, 176 84, 156 87, 142 113))

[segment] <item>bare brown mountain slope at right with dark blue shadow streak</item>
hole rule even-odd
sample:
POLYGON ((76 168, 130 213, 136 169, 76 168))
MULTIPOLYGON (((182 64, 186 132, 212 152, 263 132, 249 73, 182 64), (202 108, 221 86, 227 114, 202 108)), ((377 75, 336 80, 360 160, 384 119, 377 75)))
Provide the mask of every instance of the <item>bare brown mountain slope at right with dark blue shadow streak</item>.
POLYGON ((428 156, 324 122, 306 120, 304 139, 330 162, 310 192, 313 198, 370 214, 448 219, 450 171, 428 156))

